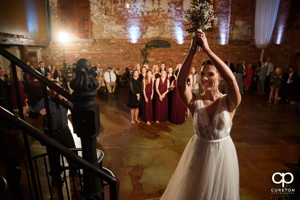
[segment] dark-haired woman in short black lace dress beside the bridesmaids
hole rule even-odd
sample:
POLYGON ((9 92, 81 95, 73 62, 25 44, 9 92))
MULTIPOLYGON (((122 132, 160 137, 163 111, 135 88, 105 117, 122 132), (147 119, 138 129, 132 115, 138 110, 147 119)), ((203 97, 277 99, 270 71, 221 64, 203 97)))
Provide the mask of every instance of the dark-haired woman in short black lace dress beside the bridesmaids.
POLYGON ((128 83, 130 93, 127 106, 131 108, 130 116, 132 124, 135 124, 134 121, 140 123, 140 121, 137 119, 137 116, 139 115, 139 107, 143 106, 142 96, 144 85, 142 79, 139 78, 139 74, 140 72, 138 70, 134 70, 128 83))

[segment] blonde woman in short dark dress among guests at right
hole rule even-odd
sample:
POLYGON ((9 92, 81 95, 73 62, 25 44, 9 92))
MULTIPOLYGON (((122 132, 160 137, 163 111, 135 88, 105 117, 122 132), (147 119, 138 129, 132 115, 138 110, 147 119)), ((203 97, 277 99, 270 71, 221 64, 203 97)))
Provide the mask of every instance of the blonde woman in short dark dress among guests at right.
POLYGON ((271 102, 273 93, 275 91, 274 103, 277 103, 278 91, 282 85, 282 80, 283 80, 282 71, 279 67, 277 67, 275 69, 275 72, 272 73, 270 82, 269 82, 269 86, 271 87, 269 102, 271 102))

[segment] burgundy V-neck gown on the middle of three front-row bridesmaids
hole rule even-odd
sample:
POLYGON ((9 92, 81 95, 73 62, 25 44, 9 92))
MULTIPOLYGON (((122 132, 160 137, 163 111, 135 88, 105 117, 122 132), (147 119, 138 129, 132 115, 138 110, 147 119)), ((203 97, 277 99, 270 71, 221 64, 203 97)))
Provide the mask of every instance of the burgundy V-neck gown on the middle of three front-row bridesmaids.
MULTIPOLYGON (((166 77, 164 83, 159 79, 158 91, 163 94, 167 91, 168 78, 166 77)), ((158 93, 155 95, 155 121, 166 122, 168 117, 168 95, 162 101, 159 100, 158 93)))

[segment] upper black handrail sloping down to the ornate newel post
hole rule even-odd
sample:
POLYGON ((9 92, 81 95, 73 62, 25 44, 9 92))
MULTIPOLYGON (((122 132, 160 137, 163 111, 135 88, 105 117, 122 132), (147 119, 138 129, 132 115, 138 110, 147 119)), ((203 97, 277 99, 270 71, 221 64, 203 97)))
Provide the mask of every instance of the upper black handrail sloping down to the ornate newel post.
POLYGON ((32 69, 30 66, 26 65, 22 60, 8 52, 7 50, 0 47, 0 54, 5 57, 7 60, 10 60, 10 62, 16 63, 17 66, 19 66, 23 71, 28 72, 30 75, 38 79, 39 81, 45 83, 49 88, 52 90, 55 90, 57 93, 59 93, 61 96, 65 97, 69 101, 73 102, 73 96, 67 93, 65 90, 63 90, 61 87, 57 86, 55 83, 52 83, 49 79, 47 79, 44 75, 42 75, 40 72, 36 71, 35 69, 32 69))

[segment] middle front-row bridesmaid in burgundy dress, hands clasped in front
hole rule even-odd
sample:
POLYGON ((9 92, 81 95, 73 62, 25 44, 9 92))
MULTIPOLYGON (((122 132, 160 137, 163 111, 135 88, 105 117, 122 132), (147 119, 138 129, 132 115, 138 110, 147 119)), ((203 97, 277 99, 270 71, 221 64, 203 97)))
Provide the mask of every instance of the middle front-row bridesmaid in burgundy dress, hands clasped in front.
POLYGON ((156 79, 155 82, 155 121, 156 123, 167 121, 168 117, 168 88, 170 81, 167 78, 167 72, 161 71, 161 77, 156 79))

